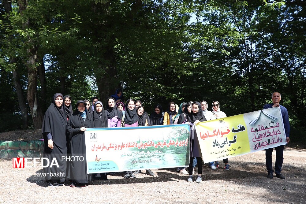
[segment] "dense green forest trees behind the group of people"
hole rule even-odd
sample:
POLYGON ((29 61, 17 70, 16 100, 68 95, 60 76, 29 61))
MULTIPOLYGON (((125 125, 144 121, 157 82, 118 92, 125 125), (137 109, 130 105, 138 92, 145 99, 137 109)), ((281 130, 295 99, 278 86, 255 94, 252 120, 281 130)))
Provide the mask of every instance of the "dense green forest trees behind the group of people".
POLYGON ((303 0, 2 0, 0 13, 0 132, 41 128, 58 92, 75 107, 122 87, 149 114, 218 100, 231 116, 278 91, 306 143, 303 0))

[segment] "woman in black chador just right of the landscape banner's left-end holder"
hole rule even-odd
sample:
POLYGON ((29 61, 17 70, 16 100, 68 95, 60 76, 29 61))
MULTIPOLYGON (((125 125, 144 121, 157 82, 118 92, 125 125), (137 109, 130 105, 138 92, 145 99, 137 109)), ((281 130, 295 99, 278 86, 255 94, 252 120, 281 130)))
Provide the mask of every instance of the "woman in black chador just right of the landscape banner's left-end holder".
MULTIPOLYGON (((95 128, 108 128, 107 122, 107 113, 103 108, 103 104, 101 101, 95 102, 94 106, 94 127, 95 128)), ((93 175, 93 179, 95 180, 108 180, 107 173, 96 173, 93 175)))

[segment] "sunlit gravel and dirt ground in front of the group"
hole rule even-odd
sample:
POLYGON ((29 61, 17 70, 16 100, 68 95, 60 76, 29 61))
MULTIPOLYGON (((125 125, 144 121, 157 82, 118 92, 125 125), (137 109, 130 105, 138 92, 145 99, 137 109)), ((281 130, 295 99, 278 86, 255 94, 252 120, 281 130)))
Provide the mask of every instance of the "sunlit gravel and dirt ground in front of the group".
MULTIPOLYGON (((266 178, 265 151, 230 159, 230 171, 203 168, 203 181, 188 183, 175 169, 153 169, 135 179, 122 174, 92 181, 86 188, 52 188, 33 176, 40 167, 13 169, 0 160, 0 203, 306 203, 306 150, 286 148, 285 180, 266 178)), ((273 154, 275 161, 275 154, 273 154)))

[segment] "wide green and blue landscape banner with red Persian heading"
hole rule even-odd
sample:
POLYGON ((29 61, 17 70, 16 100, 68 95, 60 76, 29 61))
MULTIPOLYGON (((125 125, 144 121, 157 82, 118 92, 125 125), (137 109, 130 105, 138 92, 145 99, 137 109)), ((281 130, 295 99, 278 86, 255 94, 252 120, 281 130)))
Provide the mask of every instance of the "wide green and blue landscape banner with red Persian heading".
POLYGON ((189 165, 190 126, 87 128, 87 173, 189 165))

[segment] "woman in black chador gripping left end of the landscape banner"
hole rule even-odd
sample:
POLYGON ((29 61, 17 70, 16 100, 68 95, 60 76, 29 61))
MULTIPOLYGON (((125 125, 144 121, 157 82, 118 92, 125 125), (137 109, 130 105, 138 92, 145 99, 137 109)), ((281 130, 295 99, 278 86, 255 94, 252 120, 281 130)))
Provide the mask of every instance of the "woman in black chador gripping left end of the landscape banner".
POLYGON ((70 187, 86 187, 86 184, 91 181, 92 174, 87 174, 86 166, 86 147, 84 132, 86 128, 93 128, 91 114, 88 113, 84 101, 76 103, 76 111, 69 117, 66 124, 66 137, 69 140, 68 153, 74 158, 83 158, 83 161, 70 160, 68 165, 67 178, 72 180, 70 187))

